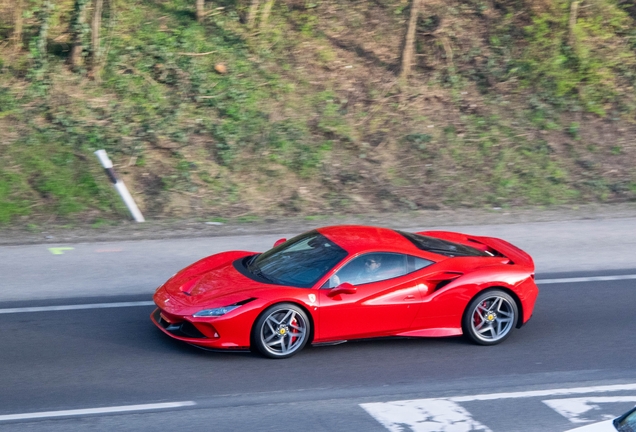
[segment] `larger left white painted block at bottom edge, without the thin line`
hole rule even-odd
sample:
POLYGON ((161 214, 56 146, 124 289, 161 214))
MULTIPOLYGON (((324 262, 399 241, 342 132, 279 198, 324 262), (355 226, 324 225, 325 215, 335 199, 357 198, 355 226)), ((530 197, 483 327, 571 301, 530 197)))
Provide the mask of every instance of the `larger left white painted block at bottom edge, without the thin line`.
POLYGON ((492 432, 473 420, 465 408, 447 399, 428 399, 425 406, 418 401, 368 403, 360 406, 391 432, 403 432, 407 427, 417 432, 492 432))

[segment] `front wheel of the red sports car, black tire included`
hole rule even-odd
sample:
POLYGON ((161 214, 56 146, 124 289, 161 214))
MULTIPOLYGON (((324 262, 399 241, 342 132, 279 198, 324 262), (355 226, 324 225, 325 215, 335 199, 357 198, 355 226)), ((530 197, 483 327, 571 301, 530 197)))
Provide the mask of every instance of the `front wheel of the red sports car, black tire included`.
POLYGON ((300 307, 278 303, 265 309, 252 328, 252 344, 265 357, 289 358, 307 344, 311 321, 300 307))

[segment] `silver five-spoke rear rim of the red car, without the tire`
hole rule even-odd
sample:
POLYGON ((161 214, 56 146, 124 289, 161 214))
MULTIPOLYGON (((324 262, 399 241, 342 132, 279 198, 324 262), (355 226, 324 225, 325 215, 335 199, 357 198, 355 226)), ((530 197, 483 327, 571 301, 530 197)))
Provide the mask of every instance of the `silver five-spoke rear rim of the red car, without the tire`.
POLYGON ((482 299, 471 312, 470 325, 474 336, 486 343, 506 337, 515 324, 516 308, 510 299, 493 293, 482 299))

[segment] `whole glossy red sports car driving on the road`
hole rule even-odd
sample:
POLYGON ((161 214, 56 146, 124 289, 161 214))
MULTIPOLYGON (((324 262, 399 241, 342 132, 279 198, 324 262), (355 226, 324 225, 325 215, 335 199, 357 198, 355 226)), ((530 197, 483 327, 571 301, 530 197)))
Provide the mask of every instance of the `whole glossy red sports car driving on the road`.
POLYGON ((331 226, 186 267, 157 290, 151 318, 202 348, 286 358, 380 336, 494 345, 530 319, 537 294, 532 258, 503 240, 331 226))

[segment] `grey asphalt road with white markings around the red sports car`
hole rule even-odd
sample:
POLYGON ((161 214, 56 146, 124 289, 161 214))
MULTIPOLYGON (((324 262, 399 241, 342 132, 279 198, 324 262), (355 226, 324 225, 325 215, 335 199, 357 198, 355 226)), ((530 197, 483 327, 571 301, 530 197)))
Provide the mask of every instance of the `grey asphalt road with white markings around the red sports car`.
MULTIPOLYGON (((539 228, 528 243, 534 236, 535 246, 550 244, 554 238, 541 241, 539 228)), ((555 261, 558 256, 535 250, 537 263, 568 270, 537 277, 636 274, 631 256, 619 262, 632 266, 611 265, 632 235, 615 248, 599 241, 595 266, 583 269, 570 257, 555 261)), ((232 244, 256 248, 271 240, 232 244)), ((160 280, 154 281, 199 254, 204 241, 191 250, 178 241, 84 244, 62 255, 38 246, 0 248, 0 310, 148 300, 160 280), (125 250, 137 252, 126 256, 125 250), (48 289, 32 285, 38 283, 48 289)), ((207 250, 214 249, 210 243, 207 250)), ((554 246, 577 247, 575 241, 554 246)), ((588 252, 580 256, 591 262, 588 252)), ((636 281, 540 289, 530 323, 495 347, 463 338, 385 339, 309 348, 284 361, 173 341, 150 323, 150 306, 0 313, 0 430, 565 431, 633 406, 636 281), (404 400, 411 402, 394 402, 404 400), (177 404, 157 405, 165 403, 177 404), (114 412, 99 411, 109 409, 114 412), (27 418, 42 412, 49 413, 27 418)))

